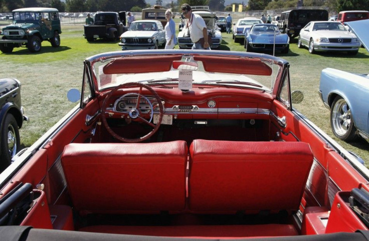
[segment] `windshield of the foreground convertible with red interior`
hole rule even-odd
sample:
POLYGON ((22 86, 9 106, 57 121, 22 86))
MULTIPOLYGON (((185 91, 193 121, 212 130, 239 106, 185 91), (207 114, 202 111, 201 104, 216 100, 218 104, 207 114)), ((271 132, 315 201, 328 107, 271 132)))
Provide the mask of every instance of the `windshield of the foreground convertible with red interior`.
MULTIPOLYGON (((92 72, 97 80, 96 89, 101 90, 125 82, 143 82, 146 84, 170 83, 177 85, 180 80, 179 74, 181 73, 181 69, 173 67, 174 65, 171 65, 170 62, 170 65, 168 66, 170 69, 161 71, 159 68, 162 68, 162 64, 159 59, 160 58, 158 58, 157 61, 152 59, 149 61, 144 58, 142 58, 142 61, 132 59, 132 61, 137 61, 137 64, 132 63, 131 67, 128 67, 127 63, 121 63, 121 65, 119 65, 117 61, 124 60, 124 58, 122 60, 120 57, 107 59, 103 62, 97 61, 92 65, 92 72)), ((281 71, 280 65, 267 62, 263 63, 260 62, 260 60, 258 60, 258 64, 260 64, 261 67, 260 71, 255 71, 259 66, 248 66, 245 64, 240 65, 245 69, 242 70, 242 72, 245 72, 242 74, 232 72, 234 69, 230 69, 230 73, 227 73, 227 69, 219 68, 218 72, 217 67, 214 67, 213 65, 211 65, 211 68, 208 67, 210 66, 209 64, 214 64, 213 62, 204 63, 200 60, 194 60, 193 57, 183 56, 180 60, 190 61, 191 63, 196 63, 198 66, 196 70, 191 71, 192 83, 194 84, 220 84, 257 88, 271 92, 276 75, 281 71), (208 71, 206 70, 207 68, 208 71)), ((211 61, 213 60, 214 59, 211 59, 211 61)), ((224 63, 219 63, 219 66, 222 66, 223 64, 224 63)))

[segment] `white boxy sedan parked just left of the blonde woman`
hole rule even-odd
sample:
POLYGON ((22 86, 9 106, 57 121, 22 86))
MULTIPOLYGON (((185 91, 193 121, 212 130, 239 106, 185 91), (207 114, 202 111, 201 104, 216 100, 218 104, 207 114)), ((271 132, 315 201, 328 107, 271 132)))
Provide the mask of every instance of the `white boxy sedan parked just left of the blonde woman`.
POLYGON ((119 46, 127 49, 157 49, 165 44, 165 30, 159 20, 133 21, 120 35, 119 46))

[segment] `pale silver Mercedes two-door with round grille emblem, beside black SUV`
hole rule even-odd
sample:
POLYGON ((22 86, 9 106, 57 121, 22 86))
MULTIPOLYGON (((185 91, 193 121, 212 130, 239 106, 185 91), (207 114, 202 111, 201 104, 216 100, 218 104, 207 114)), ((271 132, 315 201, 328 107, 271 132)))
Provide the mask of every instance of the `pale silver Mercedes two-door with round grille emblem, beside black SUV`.
POLYGON ((355 55, 360 47, 356 35, 338 21, 311 21, 300 31, 297 46, 315 51, 347 51, 355 55))

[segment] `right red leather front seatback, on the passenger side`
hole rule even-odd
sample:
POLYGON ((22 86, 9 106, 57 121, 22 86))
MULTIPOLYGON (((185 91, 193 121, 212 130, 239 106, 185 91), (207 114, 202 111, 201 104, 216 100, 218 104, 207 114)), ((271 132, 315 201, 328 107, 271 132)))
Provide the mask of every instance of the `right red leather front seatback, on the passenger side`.
POLYGON ((312 161, 304 142, 196 139, 190 146, 190 210, 297 210, 312 161))

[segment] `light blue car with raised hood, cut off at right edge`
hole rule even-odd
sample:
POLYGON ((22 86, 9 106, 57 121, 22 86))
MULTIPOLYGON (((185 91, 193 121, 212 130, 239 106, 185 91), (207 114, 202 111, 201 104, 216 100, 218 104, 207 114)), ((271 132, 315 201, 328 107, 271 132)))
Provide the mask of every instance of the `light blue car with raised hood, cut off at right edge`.
MULTIPOLYGON (((369 19, 347 22, 369 51, 369 19)), ((358 134, 369 141, 369 74, 355 74, 325 68, 320 75, 319 94, 330 109, 330 125, 335 136, 350 141, 358 134)))

